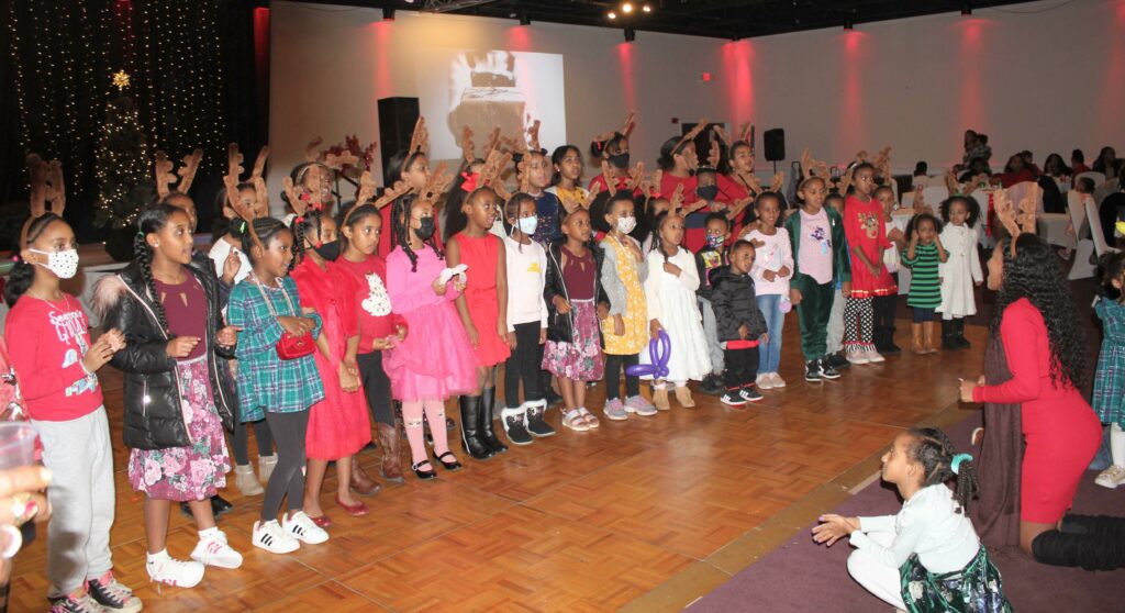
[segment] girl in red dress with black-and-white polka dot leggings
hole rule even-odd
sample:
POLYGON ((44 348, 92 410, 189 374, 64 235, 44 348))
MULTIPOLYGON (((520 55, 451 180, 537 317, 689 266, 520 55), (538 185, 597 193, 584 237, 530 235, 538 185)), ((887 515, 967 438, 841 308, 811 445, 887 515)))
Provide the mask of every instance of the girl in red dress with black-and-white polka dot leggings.
POLYGON ((883 250, 891 246, 886 238, 883 208, 872 195, 875 190, 875 168, 863 162, 852 171, 855 192, 845 198, 844 233, 852 250, 852 294, 844 304, 844 346, 853 364, 882 362, 873 339, 875 296, 898 291, 894 280, 883 265, 883 250))

